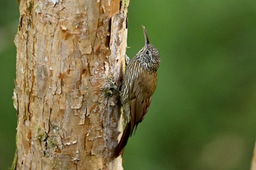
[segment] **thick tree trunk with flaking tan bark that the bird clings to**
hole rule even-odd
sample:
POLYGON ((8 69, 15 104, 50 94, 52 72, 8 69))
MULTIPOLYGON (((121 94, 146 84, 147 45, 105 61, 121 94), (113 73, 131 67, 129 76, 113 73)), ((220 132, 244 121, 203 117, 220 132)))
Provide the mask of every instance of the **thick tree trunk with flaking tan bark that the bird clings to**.
POLYGON ((16 169, 122 169, 118 95, 129 1, 20 1, 16 169))

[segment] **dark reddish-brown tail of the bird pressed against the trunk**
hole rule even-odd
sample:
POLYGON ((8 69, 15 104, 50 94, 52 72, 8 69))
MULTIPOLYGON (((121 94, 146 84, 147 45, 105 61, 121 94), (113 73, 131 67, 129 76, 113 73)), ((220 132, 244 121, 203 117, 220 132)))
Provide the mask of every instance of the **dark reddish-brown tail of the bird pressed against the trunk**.
POLYGON ((131 135, 131 122, 127 123, 123 135, 121 137, 120 142, 116 146, 115 149, 115 157, 118 157, 119 155, 123 155, 125 145, 127 144, 127 141, 129 139, 129 136, 131 135))

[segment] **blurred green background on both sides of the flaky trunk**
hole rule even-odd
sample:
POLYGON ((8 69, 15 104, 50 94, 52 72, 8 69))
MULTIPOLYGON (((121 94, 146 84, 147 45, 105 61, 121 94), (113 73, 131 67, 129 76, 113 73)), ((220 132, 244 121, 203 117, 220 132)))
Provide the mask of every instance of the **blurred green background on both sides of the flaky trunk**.
MULTIPOLYGON (((12 105, 19 24, 16 1, 0 2, 0 169, 12 164, 12 105)), ((249 169, 256 125, 256 1, 134 1, 127 50, 161 54, 148 114, 125 148, 125 169, 249 169)))

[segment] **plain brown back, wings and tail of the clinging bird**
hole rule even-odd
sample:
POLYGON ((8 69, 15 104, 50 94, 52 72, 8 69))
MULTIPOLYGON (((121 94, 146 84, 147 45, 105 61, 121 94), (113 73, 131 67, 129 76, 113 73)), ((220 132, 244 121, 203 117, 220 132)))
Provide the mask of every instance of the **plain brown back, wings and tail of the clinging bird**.
MULTIPOLYGON (((151 102, 151 97, 156 89, 157 75, 156 72, 145 72, 143 70, 131 84, 129 93, 130 121, 127 123, 120 142, 116 146, 115 157, 124 152, 129 136, 132 135, 134 127, 137 128, 145 115, 151 102)), ((126 105, 126 104, 124 104, 126 105)))

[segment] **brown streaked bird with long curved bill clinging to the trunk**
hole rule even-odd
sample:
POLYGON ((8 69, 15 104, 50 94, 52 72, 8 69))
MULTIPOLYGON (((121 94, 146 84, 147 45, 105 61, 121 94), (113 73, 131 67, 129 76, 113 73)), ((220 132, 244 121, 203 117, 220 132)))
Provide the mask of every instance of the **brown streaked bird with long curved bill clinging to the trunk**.
POLYGON ((156 89, 157 69, 161 60, 158 50, 149 43, 145 27, 142 26, 142 28, 145 46, 128 63, 122 82, 120 100, 124 108, 126 126, 122 138, 116 146, 115 157, 123 154, 134 127, 137 128, 138 123, 144 119, 156 89))

